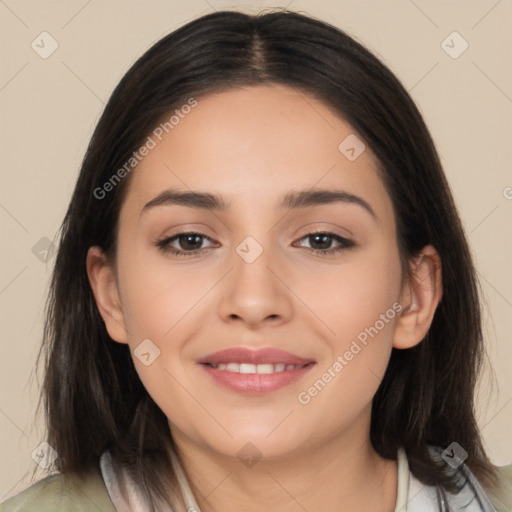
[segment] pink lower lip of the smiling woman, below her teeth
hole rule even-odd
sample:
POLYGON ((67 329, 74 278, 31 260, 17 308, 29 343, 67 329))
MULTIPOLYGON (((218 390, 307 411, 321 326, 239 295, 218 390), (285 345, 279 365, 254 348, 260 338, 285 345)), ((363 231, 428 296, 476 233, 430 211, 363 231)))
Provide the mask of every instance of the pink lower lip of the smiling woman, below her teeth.
POLYGON ((224 388, 246 395, 263 395, 297 382, 315 366, 315 363, 310 363, 297 370, 275 373, 236 373, 217 370, 206 364, 200 366, 224 388))

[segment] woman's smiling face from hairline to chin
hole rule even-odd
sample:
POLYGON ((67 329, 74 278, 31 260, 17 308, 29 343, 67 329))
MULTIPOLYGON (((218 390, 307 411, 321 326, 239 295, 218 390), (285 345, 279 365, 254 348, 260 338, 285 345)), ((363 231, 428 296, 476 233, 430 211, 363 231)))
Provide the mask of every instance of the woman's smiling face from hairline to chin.
POLYGON ((294 89, 197 101, 153 137, 130 178, 108 292, 119 308, 103 311, 109 333, 129 344, 173 435, 195 445, 236 456, 251 442, 279 458, 340 433, 364 442, 403 291, 377 161, 349 124, 294 89), (223 207, 176 203, 171 190, 223 207), (311 195, 321 190, 339 195, 311 195), (203 364, 240 347, 308 365, 258 377, 272 369, 245 366, 248 355, 239 363, 249 375, 203 364))

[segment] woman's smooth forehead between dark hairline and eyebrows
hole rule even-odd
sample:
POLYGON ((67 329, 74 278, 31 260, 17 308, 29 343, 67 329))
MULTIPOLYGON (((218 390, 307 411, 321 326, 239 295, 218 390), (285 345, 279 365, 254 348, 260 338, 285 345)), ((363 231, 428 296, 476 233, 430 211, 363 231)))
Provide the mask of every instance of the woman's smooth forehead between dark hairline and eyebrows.
POLYGON ((272 84, 195 100, 149 134, 154 147, 134 170, 127 196, 135 208, 165 188, 217 191, 241 202, 275 196, 277 204, 290 189, 343 187, 386 200, 362 137, 312 95, 272 84))

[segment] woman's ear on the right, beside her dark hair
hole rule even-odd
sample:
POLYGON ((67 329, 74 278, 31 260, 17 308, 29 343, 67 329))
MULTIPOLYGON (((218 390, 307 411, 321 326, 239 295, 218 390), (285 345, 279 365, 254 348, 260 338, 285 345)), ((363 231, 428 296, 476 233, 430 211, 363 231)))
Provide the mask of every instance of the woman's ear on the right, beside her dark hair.
POLYGON ((400 294, 403 309, 395 324, 393 347, 411 348, 427 335, 443 295, 441 258, 426 245, 411 262, 411 276, 400 294))

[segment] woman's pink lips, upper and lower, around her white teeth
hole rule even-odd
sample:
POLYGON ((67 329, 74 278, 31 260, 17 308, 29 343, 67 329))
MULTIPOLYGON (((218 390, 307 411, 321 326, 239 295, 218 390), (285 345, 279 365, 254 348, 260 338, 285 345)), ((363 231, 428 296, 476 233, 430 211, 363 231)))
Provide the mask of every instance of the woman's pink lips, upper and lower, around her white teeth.
POLYGON ((276 391, 297 382, 315 366, 315 361, 304 359, 283 350, 271 348, 250 350, 243 347, 221 350, 202 358, 198 362, 201 363, 201 368, 208 373, 214 382, 223 388, 253 396, 276 391), (290 364, 298 367, 274 373, 237 373, 211 366, 221 363, 290 364))

